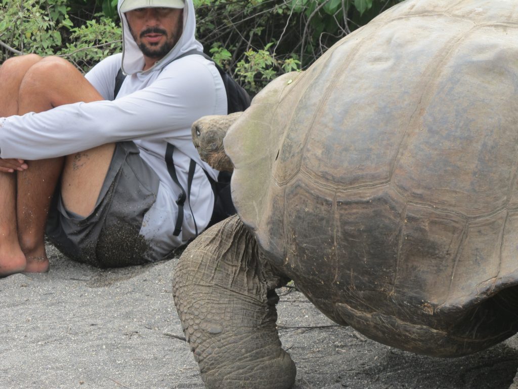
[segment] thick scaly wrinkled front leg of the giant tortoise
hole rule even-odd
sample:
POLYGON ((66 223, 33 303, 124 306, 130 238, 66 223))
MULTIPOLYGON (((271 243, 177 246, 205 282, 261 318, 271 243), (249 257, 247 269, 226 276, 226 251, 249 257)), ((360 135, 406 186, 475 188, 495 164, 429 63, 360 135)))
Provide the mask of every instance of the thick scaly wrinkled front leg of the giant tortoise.
POLYGON ((295 365, 277 334, 281 277, 260 260, 238 216, 200 235, 175 270, 173 294, 208 389, 287 389, 295 365))

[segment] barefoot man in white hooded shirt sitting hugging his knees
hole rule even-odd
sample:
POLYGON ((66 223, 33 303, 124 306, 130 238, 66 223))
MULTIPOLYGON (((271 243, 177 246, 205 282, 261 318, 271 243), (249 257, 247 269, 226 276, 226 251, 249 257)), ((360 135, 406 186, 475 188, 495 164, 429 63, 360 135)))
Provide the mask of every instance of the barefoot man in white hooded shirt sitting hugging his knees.
POLYGON ((227 102, 214 64, 182 56, 203 49, 192 0, 118 8, 123 53, 85 77, 35 54, 0 67, 0 276, 47 271, 46 228, 68 257, 116 267, 163 259, 210 221, 204 170, 218 172, 190 128, 226 114, 227 102), (128 76, 114 96, 121 65, 128 76))

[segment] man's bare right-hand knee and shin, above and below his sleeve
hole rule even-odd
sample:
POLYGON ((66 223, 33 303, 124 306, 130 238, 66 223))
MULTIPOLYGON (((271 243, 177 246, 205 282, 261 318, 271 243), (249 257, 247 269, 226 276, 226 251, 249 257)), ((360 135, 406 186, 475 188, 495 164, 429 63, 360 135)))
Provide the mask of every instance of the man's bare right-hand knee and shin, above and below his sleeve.
MULTIPOLYGON (((32 66, 20 86, 19 115, 53 107, 102 99, 76 68, 48 57, 32 66)), ((64 158, 28 161, 18 173, 18 238, 27 260, 26 272, 46 271, 45 225, 50 201, 63 169, 64 158)))

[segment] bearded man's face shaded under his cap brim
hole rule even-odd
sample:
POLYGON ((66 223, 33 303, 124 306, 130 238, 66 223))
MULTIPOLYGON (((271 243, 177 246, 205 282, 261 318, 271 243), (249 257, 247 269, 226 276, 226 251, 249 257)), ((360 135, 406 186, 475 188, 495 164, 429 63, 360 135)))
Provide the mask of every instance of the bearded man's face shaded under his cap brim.
POLYGON ((176 45, 183 30, 183 9, 137 8, 124 14, 145 57, 158 61, 176 45))

